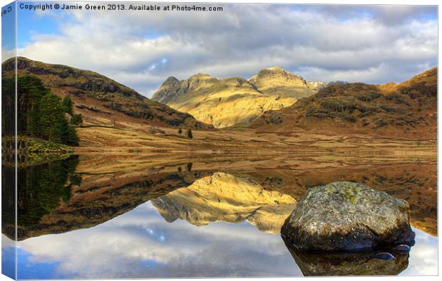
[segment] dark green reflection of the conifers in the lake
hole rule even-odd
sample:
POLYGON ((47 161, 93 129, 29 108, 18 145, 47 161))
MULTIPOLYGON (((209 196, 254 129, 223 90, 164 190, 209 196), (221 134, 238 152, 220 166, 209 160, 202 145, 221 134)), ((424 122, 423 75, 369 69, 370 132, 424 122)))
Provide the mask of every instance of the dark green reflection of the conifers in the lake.
MULTIPOLYGON (((71 198, 71 187, 81 183, 75 173, 78 157, 27 166, 17 171, 17 225, 22 228, 36 226, 40 219, 61 202, 71 198)), ((14 210, 14 168, 2 167, 3 204, 14 210)), ((9 212, 10 213, 10 212, 9 212)), ((14 213, 6 214, 2 229, 14 224, 14 213), (11 216, 9 216, 11 215, 11 216)), ((10 233, 12 234, 12 233, 10 233)))

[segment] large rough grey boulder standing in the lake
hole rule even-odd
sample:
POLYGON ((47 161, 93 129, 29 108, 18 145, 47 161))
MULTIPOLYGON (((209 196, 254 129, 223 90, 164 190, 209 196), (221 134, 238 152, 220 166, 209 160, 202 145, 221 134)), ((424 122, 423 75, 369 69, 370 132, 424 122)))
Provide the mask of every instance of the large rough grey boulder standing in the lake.
POLYGON ((299 250, 358 251, 414 242, 406 201, 352 182, 309 189, 281 234, 299 250))

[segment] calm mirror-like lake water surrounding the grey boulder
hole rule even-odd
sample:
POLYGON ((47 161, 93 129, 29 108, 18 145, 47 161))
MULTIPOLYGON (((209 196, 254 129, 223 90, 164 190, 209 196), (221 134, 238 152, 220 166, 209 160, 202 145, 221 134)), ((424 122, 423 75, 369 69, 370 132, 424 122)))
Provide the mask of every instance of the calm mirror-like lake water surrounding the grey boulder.
MULTIPOLYGON (((131 158, 140 169, 133 164, 129 169, 125 157, 107 160, 101 159, 107 163, 104 168, 99 159, 72 157, 21 169, 26 181, 19 180, 19 279, 287 277, 330 268, 332 272, 322 274, 438 273, 437 238, 423 231, 431 233, 436 227, 428 224, 436 218, 431 205, 411 203, 412 223, 423 230, 413 228, 416 244, 409 255, 393 261, 370 256, 339 262, 297 256, 295 261, 278 231, 306 182, 336 181, 334 176, 348 174, 373 185, 380 177, 390 190, 411 181, 418 186, 417 195, 408 188, 395 196, 418 202, 433 180, 413 176, 421 175, 420 169, 433 171, 433 163, 396 163, 396 170, 404 169, 404 176, 398 176, 381 174, 382 165, 343 171, 333 165, 324 169, 327 161, 297 159, 299 166, 319 165, 325 173, 313 172, 312 178, 292 164, 290 169, 264 170, 268 163, 240 169, 229 161, 220 163, 229 171, 220 171, 207 161, 158 166, 148 158, 131 158), (343 172, 336 175, 335 170, 343 172)), ((2 230, 5 266, 14 260, 14 248, 6 237, 8 228, 3 225, 2 230)))

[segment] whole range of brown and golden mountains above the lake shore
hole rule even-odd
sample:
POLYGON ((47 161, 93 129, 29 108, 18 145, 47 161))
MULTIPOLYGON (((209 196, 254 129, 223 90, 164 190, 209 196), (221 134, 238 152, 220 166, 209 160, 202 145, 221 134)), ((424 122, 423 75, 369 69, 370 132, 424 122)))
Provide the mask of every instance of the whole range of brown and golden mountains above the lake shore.
MULTIPOLYGON (((34 75, 56 95, 71 97, 74 113, 83 116, 80 147, 287 147, 304 142, 299 132, 306 140, 309 134, 436 139, 437 68, 384 85, 308 82, 279 67, 248 80, 197 74, 166 79, 149 99, 88 70, 22 57, 16 66, 18 75, 34 75), (195 131, 192 141, 183 129, 195 131)), ((14 58, 2 68, 2 76, 14 75, 14 58)))

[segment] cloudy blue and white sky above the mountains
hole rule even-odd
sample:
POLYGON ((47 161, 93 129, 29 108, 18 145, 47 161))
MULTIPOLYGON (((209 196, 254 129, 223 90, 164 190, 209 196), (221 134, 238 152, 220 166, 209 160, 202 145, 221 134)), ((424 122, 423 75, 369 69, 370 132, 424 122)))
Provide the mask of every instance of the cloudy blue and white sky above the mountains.
POLYGON ((250 78, 278 65, 306 80, 399 83, 437 65, 436 6, 217 6, 18 9, 17 53, 96 71, 147 97, 172 75, 250 78))

